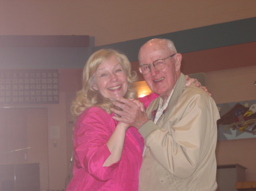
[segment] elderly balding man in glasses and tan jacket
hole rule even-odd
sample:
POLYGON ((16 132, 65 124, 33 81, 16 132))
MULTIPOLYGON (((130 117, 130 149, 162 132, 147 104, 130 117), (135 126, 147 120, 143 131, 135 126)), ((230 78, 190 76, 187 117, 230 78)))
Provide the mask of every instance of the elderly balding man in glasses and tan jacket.
POLYGON ((216 190, 216 121, 212 97, 185 86, 181 54, 172 41, 152 39, 139 50, 139 71, 159 97, 146 112, 133 100, 118 98, 115 120, 135 126, 145 148, 139 190, 216 190))

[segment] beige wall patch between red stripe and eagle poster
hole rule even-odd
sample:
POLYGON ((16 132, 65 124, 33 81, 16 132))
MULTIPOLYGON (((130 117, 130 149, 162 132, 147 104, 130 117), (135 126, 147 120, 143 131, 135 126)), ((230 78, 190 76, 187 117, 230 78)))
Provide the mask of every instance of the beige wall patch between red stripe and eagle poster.
MULTIPOLYGON (((207 88, 217 104, 255 100, 256 65, 207 73, 207 88)), ((256 141, 256 140, 255 140, 256 141)))

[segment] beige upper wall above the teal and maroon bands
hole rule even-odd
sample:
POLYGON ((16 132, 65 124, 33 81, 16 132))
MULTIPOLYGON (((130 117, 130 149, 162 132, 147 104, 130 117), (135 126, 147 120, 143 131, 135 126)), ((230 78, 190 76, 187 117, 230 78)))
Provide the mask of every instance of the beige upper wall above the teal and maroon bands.
POLYGON ((1 0, 0 35, 89 35, 98 46, 254 16, 255 0, 1 0))

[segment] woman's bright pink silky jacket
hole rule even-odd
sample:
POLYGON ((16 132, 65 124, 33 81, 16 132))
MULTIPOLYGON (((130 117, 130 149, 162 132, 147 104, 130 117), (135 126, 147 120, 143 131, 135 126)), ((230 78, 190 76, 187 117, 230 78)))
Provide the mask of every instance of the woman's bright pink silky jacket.
MULTIPOLYGON (((140 99, 145 107, 158 97, 151 94, 140 99)), ((137 191, 144 140, 134 127, 127 129, 121 159, 102 167, 109 157, 106 146, 118 122, 114 114, 92 107, 82 112, 74 130, 73 178, 66 191, 105 190, 137 191)))

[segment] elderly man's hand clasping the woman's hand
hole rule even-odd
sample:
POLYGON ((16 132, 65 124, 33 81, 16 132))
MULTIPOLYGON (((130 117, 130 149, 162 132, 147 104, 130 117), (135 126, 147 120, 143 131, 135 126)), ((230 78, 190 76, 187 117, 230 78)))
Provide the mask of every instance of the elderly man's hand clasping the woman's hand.
POLYGON ((139 103, 138 100, 128 100, 123 97, 117 97, 117 101, 113 101, 113 105, 122 109, 122 111, 120 111, 115 108, 110 108, 110 111, 121 116, 113 116, 114 120, 124 122, 137 129, 141 128, 143 124, 149 121, 143 105, 139 103))

